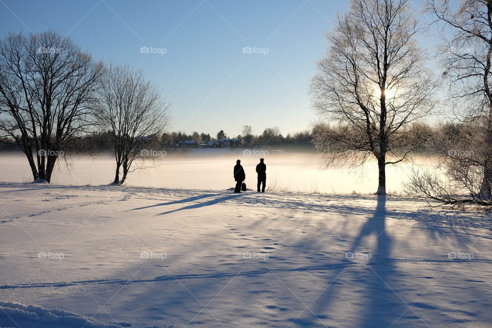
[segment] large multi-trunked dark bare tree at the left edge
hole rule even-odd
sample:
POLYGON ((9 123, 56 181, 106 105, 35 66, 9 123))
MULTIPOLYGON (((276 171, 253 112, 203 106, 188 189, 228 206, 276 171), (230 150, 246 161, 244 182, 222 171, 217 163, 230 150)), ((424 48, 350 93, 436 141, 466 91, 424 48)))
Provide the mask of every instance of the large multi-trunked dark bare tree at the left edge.
POLYGON ((101 63, 68 37, 10 33, 0 41, 0 131, 50 182, 58 156, 89 127, 101 63))

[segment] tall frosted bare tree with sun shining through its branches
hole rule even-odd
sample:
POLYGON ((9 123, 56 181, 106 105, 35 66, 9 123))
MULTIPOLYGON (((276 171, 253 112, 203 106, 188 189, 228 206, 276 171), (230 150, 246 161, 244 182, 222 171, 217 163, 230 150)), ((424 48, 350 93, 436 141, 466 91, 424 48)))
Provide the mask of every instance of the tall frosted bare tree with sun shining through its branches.
POLYGON ((419 32, 406 0, 352 0, 325 33, 328 50, 312 80, 313 107, 338 124, 314 129, 315 145, 327 165, 341 157, 361 165, 374 156, 377 194, 386 193, 386 165, 413 149, 412 122, 434 106, 435 81, 416 42, 419 32))

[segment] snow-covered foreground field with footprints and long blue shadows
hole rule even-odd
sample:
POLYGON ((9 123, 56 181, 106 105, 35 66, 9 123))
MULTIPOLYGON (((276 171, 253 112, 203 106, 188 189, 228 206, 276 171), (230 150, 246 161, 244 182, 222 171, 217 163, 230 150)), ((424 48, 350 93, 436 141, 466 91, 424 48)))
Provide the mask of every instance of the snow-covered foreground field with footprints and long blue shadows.
POLYGON ((420 201, 0 185, 0 326, 490 327, 492 219, 420 201))

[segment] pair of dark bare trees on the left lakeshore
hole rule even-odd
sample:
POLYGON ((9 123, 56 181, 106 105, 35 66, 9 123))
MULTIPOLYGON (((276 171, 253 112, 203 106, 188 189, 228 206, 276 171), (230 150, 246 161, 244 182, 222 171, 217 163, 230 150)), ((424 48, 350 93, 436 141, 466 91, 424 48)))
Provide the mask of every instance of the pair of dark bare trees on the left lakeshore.
POLYGON ((104 129, 114 137, 114 182, 123 183, 146 138, 168 122, 168 106, 139 70, 105 67, 54 31, 0 40, 0 138, 24 152, 34 181, 50 182, 74 141, 104 129))

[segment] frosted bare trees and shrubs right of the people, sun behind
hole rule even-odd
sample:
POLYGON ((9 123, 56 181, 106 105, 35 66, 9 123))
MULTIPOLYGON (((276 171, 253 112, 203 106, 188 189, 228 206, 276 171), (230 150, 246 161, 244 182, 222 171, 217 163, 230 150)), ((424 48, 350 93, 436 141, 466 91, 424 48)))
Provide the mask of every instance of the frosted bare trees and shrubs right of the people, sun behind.
POLYGON ((423 10, 442 31, 440 81, 418 46, 423 25, 411 6, 407 0, 352 0, 338 15, 311 84, 314 108, 328 119, 316 126, 315 145, 327 164, 375 158, 377 194, 385 194, 385 166, 408 159, 421 145, 420 122, 445 85, 446 106, 461 130, 433 145, 447 152, 441 162, 445 181, 437 173, 415 172, 409 190, 442 203, 490 202, 492 2, 461 0, 453 10, 449 0, 426 1, 423 10), (466 199, 453 196, 463 191, 466 199))

